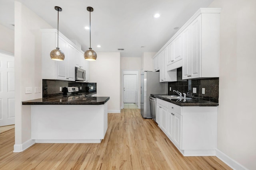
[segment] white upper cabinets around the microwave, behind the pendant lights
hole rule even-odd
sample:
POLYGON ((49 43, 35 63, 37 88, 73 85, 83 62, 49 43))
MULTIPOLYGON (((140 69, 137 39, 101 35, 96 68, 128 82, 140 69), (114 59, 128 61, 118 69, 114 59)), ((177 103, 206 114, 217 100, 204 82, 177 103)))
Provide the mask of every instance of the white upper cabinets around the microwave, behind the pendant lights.
MULTIPOLYGON (((59 48, 65 55, 64 61, 54 61, 50 52, 57 47, 58 34, 56 29, 41 29, 42 31, 42 78, 54 80, 75 81, 75 66, 89 74, 89 64, 83 57, 83 51, 59 32, 59 48), (86 68, 88 67, 88 68, 86 68)), ((88 76, 89 78, 89 76, 88 76)), ((89 82, 89 79, 88 79, 89 82)))

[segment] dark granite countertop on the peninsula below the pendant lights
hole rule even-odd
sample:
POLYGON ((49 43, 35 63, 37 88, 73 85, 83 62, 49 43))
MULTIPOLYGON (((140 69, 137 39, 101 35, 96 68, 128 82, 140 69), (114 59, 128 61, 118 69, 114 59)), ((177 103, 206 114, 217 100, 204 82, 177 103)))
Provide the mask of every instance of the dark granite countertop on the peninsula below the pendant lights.
POLYGON ((101 105, 105 104, 109 99, 109 97, 86 97, 85 95, 77 94, 27 100, 23 101, 22 105, 101 105))

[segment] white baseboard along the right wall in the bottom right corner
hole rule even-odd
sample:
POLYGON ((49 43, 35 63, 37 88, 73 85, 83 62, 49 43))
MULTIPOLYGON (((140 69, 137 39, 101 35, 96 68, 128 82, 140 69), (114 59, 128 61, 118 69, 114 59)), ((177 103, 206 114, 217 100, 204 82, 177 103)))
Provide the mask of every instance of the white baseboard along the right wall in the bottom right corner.
POLYGON ((236 160, 230 158, 228 155, 224 154, 220 150, 216 149, 216 157, 222 160, 230 168, 234 170, 248 170, 246 167, 238 163, 236 160))

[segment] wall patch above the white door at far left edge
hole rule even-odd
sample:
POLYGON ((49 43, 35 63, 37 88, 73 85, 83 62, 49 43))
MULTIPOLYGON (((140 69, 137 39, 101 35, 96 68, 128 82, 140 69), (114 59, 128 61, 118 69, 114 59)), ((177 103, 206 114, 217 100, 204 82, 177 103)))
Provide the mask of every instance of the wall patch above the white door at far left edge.
POLYGON ((0 50, 14 53, 14 30, 0 25, 0 50))

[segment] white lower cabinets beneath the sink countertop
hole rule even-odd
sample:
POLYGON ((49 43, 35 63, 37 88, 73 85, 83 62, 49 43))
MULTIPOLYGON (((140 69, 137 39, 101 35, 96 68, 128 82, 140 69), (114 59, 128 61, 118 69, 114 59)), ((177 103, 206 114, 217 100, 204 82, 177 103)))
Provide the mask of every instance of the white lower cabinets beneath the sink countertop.
POLYGON ((184 156, 214 156, 217 107, 178 106, 156 99, 158 126, 184 156))

